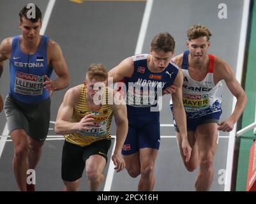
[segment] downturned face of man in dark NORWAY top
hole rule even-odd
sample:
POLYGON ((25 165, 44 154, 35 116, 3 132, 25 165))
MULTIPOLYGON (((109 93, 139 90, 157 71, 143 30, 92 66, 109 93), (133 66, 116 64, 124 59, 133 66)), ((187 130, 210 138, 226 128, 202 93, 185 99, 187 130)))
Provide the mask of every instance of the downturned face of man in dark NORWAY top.
POLYGON ((170 59, 172 58, 172 55, 174 52, 164 52, 162 50, 150 50, 150 54, 152 55, 152 59, 154 62, 154 71, 163 71, 165 68, 167 68, 170 59))

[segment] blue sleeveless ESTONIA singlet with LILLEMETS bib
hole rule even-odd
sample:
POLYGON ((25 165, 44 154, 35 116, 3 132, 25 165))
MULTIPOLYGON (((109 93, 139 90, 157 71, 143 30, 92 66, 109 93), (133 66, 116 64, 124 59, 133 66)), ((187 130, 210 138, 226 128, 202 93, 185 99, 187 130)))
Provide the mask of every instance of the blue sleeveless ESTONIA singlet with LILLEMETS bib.
POLYGON ((49 98, 49 91, 43 89, 44 75, 49 78, 52 68, 47 61, 49 38, 41 36, 38 50, 24 54, 20 50, 20 36, 15 36, 11 45, 10 95, 24 103, 36 103, 49 98))

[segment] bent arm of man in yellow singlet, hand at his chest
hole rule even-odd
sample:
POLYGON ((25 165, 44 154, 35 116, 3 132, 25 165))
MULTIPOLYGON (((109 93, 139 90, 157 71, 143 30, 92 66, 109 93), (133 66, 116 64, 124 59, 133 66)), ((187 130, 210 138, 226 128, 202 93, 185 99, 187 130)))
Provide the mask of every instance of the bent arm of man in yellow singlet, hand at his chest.
POLYGON ((64 95, 63 102, 61 103, 57 113, 56 124, 54 127, 54 131, 57 134, 68 134, 79 130, 91 129, 90 126, 93 125, 92 122, 89 122, 93 119, 91 115, 86 115, 86 117, 82 118, 80 122, 70 122, 73 110, 79 100, 79 90, 79 88, 73 87, 64 95))

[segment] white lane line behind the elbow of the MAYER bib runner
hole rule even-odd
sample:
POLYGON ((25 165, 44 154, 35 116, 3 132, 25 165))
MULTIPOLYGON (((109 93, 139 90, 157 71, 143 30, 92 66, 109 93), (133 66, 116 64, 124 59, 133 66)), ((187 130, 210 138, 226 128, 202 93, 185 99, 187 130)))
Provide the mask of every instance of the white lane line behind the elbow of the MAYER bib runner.
MULTIPOLYGON (((238 47, 238 54, 237 54, 238 58, 237 58, 237 64, 236 64, 236 78, 240 84, 242 79, 243 62, 245 57, 246 33, 247 33, 249 10, 250 10, 250 0, 244 0, 239 47, 238 47)), ((236 105, 236 98, 233 97, 232 111, 234 110, 235 105, 236 105)), ((224 191, 231 190, 235 140, 236 140, 236 124, 234 125, 234 129, 230 132, 229 147, 227 150, 227 166, 226 166, 226 174, 225 174, 224 191)))

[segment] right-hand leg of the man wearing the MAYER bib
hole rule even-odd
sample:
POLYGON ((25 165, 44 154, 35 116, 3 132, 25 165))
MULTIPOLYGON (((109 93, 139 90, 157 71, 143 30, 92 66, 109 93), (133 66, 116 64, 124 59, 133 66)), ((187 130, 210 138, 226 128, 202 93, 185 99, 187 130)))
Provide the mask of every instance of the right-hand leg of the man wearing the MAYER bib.
POLYGON ((217 124, 212 122, 197 126, 196 135, 200 170, 195 180, 195 189, 209 191, 214 175, 213 159, 217 149, 217 124))

